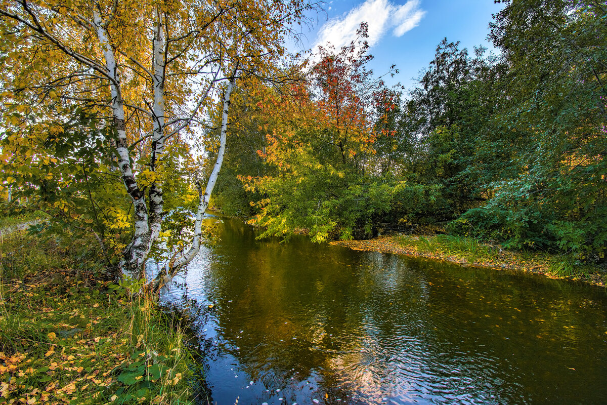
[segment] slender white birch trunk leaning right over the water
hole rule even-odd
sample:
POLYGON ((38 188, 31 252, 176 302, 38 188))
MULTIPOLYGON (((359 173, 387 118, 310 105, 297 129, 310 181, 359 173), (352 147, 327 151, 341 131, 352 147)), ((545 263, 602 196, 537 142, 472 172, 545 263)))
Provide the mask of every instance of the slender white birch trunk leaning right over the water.
POLYGON ((234 75, 232 75, 232 77, 230 78, 228 82, 228 87, 226 88, 226 91, 223 94, 222 128, 219 138, 219 150, 217 151, 217 160, 215 161, 215 166, 213 167, 211 176, 209 177, 209 182, 206 183, 205 192, 204 194, 201 193, 200 202, 198 203, 196 222, 194 223, 194 239, 192 239, 192 243, 186 253, 182 254, 179 257, 176 257, 167 264, 166 273, 168 273, 169 277, 174 276, 177 271, 179 271, 186 264, 191 262, 191 260, 194 259, 194 257, 196 257, 196 255, 198 254, 198 250, 200 250, 200 238, 202 237, 202 219, 205 215, 206 208, 209 206, 211 193, 213 191, 213 188, 215 187, 215 183, 217 183, 217 177, 219 176, 219 171, 222 168, 223 155, 225 154, 226 134, 228 132, 228 111, 230 104, 230 95, 232 94, 232 90, 234 89, 235 77, 236 72, 234 72, 234 75))

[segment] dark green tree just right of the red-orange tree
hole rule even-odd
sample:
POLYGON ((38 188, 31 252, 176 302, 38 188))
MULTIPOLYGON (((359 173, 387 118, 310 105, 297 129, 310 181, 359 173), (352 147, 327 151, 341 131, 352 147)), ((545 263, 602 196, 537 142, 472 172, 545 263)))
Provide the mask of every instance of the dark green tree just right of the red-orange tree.
POLYGON ((503 148, 487 150, 487 140, 480 137, 489 132, 490 117, 504 98, 504 65, 484 53, 475 48, 472 57, 459 43, 443 39, 401 118, 401 128, 418 134, 413 157, 403 162, 405 171, 415 173, 421 184, 441 186, 439 219, 481 205, 487 192, 483 182, 499 177, 504 161, 510 160, 503 148))

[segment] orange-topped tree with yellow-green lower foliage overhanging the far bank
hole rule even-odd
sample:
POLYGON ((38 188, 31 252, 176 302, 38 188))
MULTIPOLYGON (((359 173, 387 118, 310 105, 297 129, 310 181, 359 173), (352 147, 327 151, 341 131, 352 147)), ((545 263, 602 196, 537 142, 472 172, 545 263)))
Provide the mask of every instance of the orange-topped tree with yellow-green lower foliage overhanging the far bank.
POLYGON ((274 117, 258 152, 266 170, 243 180, 258 193, 252 222, 265 228, 263 236, 307 228, 316 242, 368 238, 390 207, 394 188, 381 178, 373 145, 392 136, 376 123, 395 108, 394 98, 367 69, 365 29, 339 52, 320 49, 307 86, 273 91, 262 103, 274 117))

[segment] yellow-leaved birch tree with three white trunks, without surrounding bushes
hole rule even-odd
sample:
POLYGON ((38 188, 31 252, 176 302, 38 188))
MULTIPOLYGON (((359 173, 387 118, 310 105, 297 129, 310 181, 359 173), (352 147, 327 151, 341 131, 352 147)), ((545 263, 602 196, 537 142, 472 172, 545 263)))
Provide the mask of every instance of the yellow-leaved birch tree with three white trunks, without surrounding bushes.
POLYGON ((191 247, 171 260, 178 270, 200 245, 202 215, 225 152, 231 91, 239 77, 272 74, 291 24, 307 7, 300 1, 259 0, 3 2, 3 126, 12 137, 2 151, 4 162, 18 157, 17 146, 27 144, 32 126, 49 130, 42 127, 50 115, 64 118, 80 106, 103 117, 107 147, 115 155, 112 166, 133 208, 132 239, 115 275, 141 276, 162 228, 166 143, 204 134, 206 111, 219 96, 217 163, 200 196, 191 247), (221 82, 228 82, 223 95, 221 82), (35 120, 33 111, 44 115, 35 120), (137 149, 144 164, 136 163, 137 149))

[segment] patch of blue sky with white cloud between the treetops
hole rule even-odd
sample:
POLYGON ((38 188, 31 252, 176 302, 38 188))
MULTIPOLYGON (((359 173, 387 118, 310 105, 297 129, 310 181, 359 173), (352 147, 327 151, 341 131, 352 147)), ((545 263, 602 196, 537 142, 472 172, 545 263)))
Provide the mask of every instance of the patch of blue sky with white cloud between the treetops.
POLYGON ((487 24, 502 7, 493 0, 327 0, 326 14, 314 15, 316 22, 304 47, 314 48, 325 41, 341 47, 354 39, 365 21, 370 53, 375 56, 370 67, 381 74, 396 64, 400 73, 389 84, 400 81, 410 89, 444 37, 461 41, 470 53, 477 45, 492 49, 486 40, 487 24))

